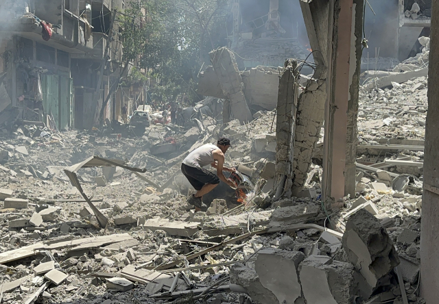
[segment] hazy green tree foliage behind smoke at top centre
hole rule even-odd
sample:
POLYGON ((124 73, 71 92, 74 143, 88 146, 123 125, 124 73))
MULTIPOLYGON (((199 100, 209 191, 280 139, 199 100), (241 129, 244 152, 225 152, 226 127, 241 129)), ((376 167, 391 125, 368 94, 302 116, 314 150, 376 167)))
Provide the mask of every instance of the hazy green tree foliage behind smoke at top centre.
POLYGON ((209 65, 209 51, 226 45, 227 14, 227 0, 130 1, 119 18, 123 60, 160 79, 154 99, 199 101, 198 72, 209 65))

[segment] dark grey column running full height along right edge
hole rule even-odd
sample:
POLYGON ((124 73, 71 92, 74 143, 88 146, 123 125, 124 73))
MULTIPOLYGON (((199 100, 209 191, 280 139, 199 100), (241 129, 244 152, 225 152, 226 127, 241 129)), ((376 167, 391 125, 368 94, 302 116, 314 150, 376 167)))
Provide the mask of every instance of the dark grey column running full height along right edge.
POLYGON ((439 0, 431 1, 428 114, 425 125, 423 219, 420 231, 420 295, 439 299, 439 0))

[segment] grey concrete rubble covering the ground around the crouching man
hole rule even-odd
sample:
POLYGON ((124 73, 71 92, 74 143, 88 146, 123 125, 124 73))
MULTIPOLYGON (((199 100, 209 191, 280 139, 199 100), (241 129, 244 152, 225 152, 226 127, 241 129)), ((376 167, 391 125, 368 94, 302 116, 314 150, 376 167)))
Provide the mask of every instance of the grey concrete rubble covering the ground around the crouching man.
POLYGON ((330 214, 319 200, 322 132, 305 190, 267 203, 274 111, 224 127, 201 115, 132 138, 19 127, 1 144, 0 303, 424 303, 427 81, 400 76, 361 89, 357 193, 330 214), (195 212, 180 162, 221 135, 233 144, 226 164, 247 183, 221 184, 195 212), (63 170, 91 155, 147 169, 78 171, 105 228, 63 170))

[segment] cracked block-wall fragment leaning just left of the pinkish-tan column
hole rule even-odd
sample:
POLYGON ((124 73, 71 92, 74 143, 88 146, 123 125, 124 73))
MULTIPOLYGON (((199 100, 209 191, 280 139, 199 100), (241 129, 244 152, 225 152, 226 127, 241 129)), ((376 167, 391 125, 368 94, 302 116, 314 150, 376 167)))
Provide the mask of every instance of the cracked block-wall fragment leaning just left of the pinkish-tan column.
POLYGON ((309 80, 298 99, 296 132, 294 138, 293 193, 305 185, 313 150, 318 142, 324 120, 327 100, 326 82, 309 80))

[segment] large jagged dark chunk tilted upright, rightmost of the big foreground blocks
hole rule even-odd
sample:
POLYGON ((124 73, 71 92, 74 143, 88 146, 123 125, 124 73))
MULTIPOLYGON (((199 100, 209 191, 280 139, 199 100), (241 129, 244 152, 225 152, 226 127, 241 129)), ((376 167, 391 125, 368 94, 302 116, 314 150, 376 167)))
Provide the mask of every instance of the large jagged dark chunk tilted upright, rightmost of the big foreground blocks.
POLYGON ((342 238, 346 255, 371 288, 394 267, 399 258, 379 220, 364 209, 353 214, 342 238))

